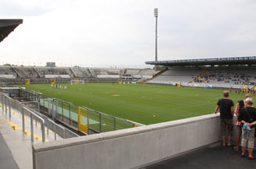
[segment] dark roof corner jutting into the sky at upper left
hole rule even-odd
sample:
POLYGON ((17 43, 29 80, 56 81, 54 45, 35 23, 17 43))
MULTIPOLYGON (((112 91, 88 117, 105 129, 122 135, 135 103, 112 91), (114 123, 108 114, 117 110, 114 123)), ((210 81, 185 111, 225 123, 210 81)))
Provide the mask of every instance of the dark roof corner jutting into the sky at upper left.
POLYGON ((21 23, 23 19, 0 19, 0 42, 21 23))

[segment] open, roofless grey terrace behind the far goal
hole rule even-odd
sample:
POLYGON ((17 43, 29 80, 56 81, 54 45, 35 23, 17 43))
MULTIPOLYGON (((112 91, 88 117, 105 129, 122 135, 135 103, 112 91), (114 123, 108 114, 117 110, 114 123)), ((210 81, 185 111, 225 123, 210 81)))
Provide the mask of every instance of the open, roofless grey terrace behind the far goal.
POLYGON ((85 82, 119 82, 120 78, 151 79, 157 71, 151 69, 108 69, 80 67, 36 67, 36 66, 0 66, 0 81, 5 83, 69 83, 70 80, 85 82))

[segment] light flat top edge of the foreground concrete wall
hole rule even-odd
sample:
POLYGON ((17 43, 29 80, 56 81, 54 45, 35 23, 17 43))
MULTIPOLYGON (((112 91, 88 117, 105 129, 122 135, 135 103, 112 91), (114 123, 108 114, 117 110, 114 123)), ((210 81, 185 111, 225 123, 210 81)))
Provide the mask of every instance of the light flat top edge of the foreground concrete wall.
POLYGON ((184 118, 176 121, 167 121, 167 122, 162 122, 162 123, 153 124, 153 125, 145 125, 145 126, 140 126, 140 127, 131 128, 131 129, 121 129, 121 130, 116 130, 112 132, 102 132, 100 134, 94 134, 89 136, 62 139, 62 140, 57 140, 57 141, 48 142, 48 143, 37 143, 37 144, 34 144, 32 147, 33 147, 33 152, 38 153, 38 152, 43 152, 48 150, 62 149, 68 146, 78 146, 85 143, 96 143, 103 140, 114 139, 114 138, 119 138, 124 136, 131 136, 131 135, 136 135, 143 132, 151 132, 151 131, 156 131, 160 129, 167 129, 167 128, 175 127, 179 125, 187 125, 190 123, 195 123, 198 121, 207 121, 213 118, 219 118, 219 113, 206 114, 206 115, 201 115, 193 118, 184 118))

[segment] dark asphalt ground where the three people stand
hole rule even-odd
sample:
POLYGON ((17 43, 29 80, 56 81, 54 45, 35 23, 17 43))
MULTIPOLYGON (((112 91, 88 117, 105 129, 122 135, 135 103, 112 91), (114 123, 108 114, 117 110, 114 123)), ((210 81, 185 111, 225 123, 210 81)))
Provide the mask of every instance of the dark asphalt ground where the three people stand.
POLYGON ((208 147, 152 164, 144 169, 252 169, 256 167, 256 160, 248 160, 248 153, 242 158, 240 153, 233 150, 233 147, 208 147))

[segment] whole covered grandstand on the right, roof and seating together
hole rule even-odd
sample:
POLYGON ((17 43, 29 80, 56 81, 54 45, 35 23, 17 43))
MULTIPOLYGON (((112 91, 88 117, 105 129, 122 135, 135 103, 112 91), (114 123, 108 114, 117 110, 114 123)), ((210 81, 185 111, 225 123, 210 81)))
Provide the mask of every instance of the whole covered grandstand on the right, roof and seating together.
MULTIPOLYGON (((162 83, 183 86, 212 86, 222 88, 253 88, 256 83, 251 65, 256 57, 192 59, 166 62, 155 62, 157 65, 169 65, 169 70, 151 79, 148 83, 162 83), (209 66, 210 65, 210 66, 209 66), (217 66, 215 66, 217 65, 217 66)), ((147 63, 147 62, 146 62, 147 63)), ((153 64, 154 62, 148 62, 153 64)))

